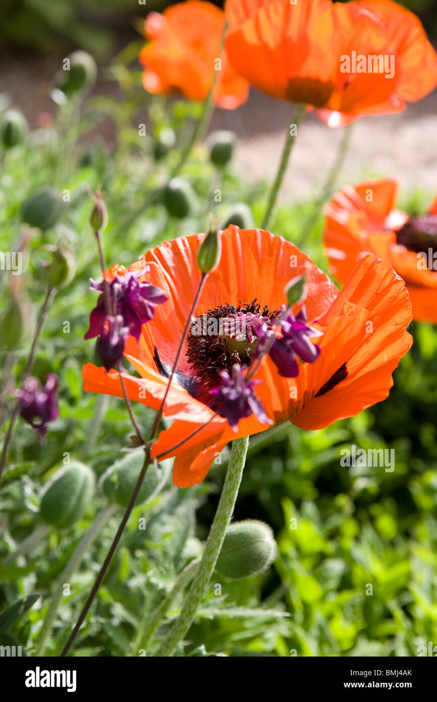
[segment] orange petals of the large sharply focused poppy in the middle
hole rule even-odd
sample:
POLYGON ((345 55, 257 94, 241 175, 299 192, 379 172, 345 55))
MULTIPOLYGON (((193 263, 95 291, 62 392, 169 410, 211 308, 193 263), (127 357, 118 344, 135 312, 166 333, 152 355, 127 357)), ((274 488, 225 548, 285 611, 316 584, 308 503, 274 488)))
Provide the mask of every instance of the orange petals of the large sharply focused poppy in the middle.
MULTIPOLYGON (((159 408, 166 390, 166 376, 199 286, 196 252, 204 236, 167 241, 129 268, 144 268, 147 281, 168 294, 166 303, 156 307, 151 322, 142 326, 138 343, 130 336, 125 347, 126 359, 140 375, 123 374, 128 395, 154 409, 159 408)), ((126 268, 112 267, 108 279, 116 273, 124 274, 126 268)), ((391 373, 410 348, 411 337, 405 331, 411 320, 408 291, 390 265, 366 256, 339 292, 294 244, 269 232, 239 230, 231 225, 222 235, 220 265, 206 279, 196 315, 222 305, 250 304, 255 298, 262 309, 264 305, 279 309, 285 284, 303 273, 308 277, 308 318, 323 332, 317 339, 320 356, 314 363, 302 363, 296 378, 279 376, 267 357, 255 379, 262 380, 257 395, 272 423, 290 420, 304 429, 318 429, 384 399, 393 382, 391 373)), ((87 364, 83 379, 88 392, 122 397, 117 371, 107 373, 87 364)), ((203 402, 207 397, 185 354, 164 410, 164 417, 173 423, 161 432, 152 449, 153 457, 176 456, 173 482, 180 487, 201 482, 214 458, 232 439, 268 428, 253 415, 241 419, 234 432, 227 420, 214 415, 203 402), (191 438, 173 449, 186 437, 191 438)))

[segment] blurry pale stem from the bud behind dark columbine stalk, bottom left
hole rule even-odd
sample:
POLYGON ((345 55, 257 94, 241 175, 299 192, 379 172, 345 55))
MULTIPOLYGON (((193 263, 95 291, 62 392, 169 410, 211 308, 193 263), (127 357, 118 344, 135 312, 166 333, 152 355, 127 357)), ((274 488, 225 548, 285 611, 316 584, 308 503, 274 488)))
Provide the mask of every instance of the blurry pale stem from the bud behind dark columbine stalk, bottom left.
POLYGON ((34 656, 42 656, 46 648, 46 637, 50 632, 53 620, 55 619, 55 616, 58 613, 58 607, 62 599, 62 592, 65 583, 68 583, 69 579, 79 567, 84 553, 93 543, 96 536, 98 536, 100 529, 102 529, 104 524, 106 524, 109 517, 111 517, 112 514, 115 512, 116 506, 117 505, 107 505, 102 510, 100 510, 98 515, 95 517, 93 523, 91 524, 90 528, 88 529, 88 531, 86 531, 86 533, 81 538, 81 541, 79 541, 78 545, 74 549, 74 552, 69 558, 65 569, 60 574, 58 583, 55 587, 55 592, 53 592, 53 597, 51 599, 50 604, 48 605, 46 616, 44 617, 43 625, 39 632, 39 637, 36 641, 34 656))

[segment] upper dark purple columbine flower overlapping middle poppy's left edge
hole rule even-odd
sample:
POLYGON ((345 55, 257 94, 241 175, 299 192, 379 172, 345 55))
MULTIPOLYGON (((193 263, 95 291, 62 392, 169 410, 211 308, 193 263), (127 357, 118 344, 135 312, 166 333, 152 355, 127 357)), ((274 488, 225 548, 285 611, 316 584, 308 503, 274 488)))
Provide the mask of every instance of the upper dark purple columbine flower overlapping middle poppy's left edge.
MULTIPOLYGON (((144 276, 144 270, 128 271, 126 275, 116 275, 109 283, 109 299, 111 314, 123 317, 123 326, 128 327, 129 333, 140 338, 141 326, 150 322, 154 316, 154 307, 162 305, 168 299, 161 288, 152 283, 141 283, 139 278, 144 276)), ((105 280, 96 282, 90 280, 90 289, 100 291, 97 306, 90 314, 90 328, 85 338, 92 339, 101 333, 107 317, 105 308, 105 280)))

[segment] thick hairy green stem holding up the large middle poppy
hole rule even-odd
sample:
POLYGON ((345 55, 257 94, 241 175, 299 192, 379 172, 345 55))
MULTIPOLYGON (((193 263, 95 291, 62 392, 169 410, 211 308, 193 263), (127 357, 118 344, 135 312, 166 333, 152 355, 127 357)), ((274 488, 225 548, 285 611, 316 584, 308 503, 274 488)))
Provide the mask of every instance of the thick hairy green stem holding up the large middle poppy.
POLYGON ((180 616, 177 618, 170 633, 156 653, 156 656, 173 656, 182 637, 187 634, 196 611, 203 600, 206 588, 217 562, 217 558, 222 548, 224 535, 231 521, 232 513, 238 495, 238 489, 243 477, 246 453, 248 450, 249 438, 235 439, 232 442, 231 457, 224 479, 224 485, 220 501, 215 512, 214 521, 210 529, 205 551, 201 559, 199 572, 194 578, 187 599, 184 602, 180 616))

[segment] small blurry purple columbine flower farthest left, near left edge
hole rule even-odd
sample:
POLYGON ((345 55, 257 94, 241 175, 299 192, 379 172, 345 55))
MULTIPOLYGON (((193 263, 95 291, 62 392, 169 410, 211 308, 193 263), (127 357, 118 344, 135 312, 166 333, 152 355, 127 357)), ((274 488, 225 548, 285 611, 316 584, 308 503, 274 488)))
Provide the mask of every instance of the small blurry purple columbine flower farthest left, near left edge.
POLYGON ((41 437, 46 435, 47 424, 59 416, 58 378, 49 373, 46 385, 41 387, 38 378, 25 378, 20 390, 15 390, 15 397, 20 403, 20 416, 28 422, 41 437))

